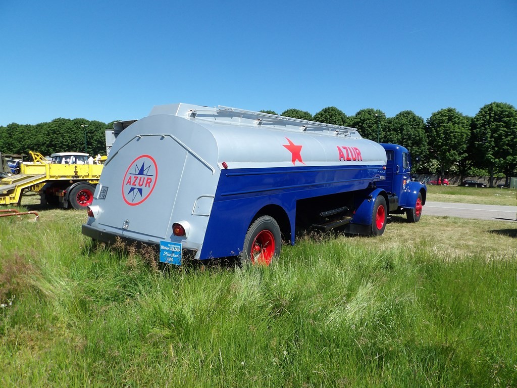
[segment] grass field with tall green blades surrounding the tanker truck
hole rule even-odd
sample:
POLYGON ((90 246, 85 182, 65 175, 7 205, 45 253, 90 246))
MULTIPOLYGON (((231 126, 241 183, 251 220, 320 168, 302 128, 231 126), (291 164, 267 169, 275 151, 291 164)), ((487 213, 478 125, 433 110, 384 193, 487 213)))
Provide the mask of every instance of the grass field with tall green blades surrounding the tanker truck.
POLYGON ((307 236, 267 268, 164 269, 94 248, 84 220, 0 218, 2 387, 517 386, 512 222, 424 207, 376 238, 307 236))

